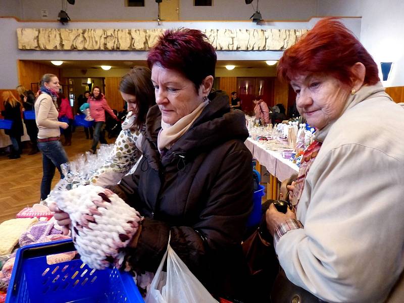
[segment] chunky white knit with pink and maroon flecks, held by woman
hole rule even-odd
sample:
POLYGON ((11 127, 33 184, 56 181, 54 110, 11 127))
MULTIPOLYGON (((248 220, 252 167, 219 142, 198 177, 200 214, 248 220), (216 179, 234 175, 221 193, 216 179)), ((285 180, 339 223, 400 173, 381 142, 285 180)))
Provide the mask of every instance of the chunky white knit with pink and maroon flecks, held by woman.
POLYGON ((94 269, 121 267, 124 248, 141 221, 135 209, 111 190, 94 185, 61 191, 56 203, 72 220, 73 242, 85 264, 94 269))

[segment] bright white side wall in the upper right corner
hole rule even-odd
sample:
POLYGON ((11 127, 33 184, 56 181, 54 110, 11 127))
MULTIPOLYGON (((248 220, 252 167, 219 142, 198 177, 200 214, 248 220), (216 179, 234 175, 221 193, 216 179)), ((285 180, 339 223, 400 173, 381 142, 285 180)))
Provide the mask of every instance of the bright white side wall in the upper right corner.
POLYGON ((404 86, 404 1, 319 0, 319 15, 362 16, 361 42, 379 66, 394 62, 385 87, 404 86), (335 14, 337 12, 338 14, 335 14))

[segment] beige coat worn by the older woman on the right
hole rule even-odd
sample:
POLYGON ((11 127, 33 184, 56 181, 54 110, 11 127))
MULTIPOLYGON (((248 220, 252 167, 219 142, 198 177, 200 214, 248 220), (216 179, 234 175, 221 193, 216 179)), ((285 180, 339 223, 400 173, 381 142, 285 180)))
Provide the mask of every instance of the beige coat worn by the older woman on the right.
POLYGON ((276 252, 288 279, 328 302, 383 302, 404 268, 404 108, 381 83, 349 96, 276 252))

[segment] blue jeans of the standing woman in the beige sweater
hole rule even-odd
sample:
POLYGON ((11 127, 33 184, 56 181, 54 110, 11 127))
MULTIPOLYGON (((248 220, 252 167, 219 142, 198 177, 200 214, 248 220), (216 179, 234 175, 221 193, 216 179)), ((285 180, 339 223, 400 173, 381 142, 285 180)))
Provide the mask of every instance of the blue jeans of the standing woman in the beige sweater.
POLYGON ((41 182, 41 200, 46 199, 51 192, 52 179, 56 168, 60 172, 61 179, 65 176, 60 168, 61 164, 69 162, 61 141, 38 142, 38 148, 42 151, 43 176, 41 182))

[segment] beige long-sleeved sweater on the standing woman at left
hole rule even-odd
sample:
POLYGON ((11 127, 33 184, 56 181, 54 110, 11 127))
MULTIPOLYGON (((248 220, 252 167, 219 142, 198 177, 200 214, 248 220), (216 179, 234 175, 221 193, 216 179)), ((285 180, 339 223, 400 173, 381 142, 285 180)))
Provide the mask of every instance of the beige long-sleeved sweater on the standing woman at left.
POLYGON ((38 138, 59 137, 58 110, 50 95, 41 93, 35 101, 35 119, 38 126, 38 138))

